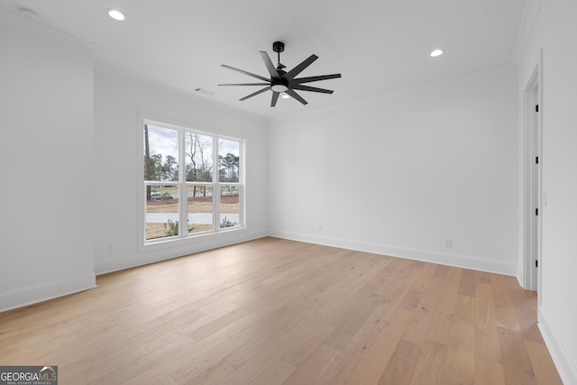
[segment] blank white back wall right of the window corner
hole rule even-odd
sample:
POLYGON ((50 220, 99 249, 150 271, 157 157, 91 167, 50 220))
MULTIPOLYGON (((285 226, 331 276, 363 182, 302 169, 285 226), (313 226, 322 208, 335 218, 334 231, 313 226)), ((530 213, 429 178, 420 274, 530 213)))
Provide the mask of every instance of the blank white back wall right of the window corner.
POLYGON ((515 274, 516 92, 508 65, 272 121, 270 233, 515 274))

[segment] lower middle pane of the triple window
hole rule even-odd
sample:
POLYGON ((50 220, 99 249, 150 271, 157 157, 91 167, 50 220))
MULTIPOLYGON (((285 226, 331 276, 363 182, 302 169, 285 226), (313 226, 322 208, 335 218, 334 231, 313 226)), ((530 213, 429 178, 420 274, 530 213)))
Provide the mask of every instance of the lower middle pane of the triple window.
POLYGON ((213 229, 212 186, 188 186, 188 234, 213 229))

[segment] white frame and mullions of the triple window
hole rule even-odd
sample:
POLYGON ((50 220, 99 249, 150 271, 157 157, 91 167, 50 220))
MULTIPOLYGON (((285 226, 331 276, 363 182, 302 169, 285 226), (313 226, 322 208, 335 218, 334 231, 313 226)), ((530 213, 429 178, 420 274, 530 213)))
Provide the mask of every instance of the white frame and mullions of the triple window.
POLYGON ((148 117, 141 116, 139 119, 139 146, 138 146, 138 176, 139 176, 139 244, 142 246, 147 246, 157 243, 166 242, 179 242, 183 240, 193 239, 197 237, 206 236, 208 234, 219 234, 224 232, 234 232, 243 230, 245 225, 245 141, 241 138, 223 135, 219 133, 212 133, 210 131, 203 130, 191 124, 170 124, 167 123, 165 119, 151 119, 148 117), (144 125, 154 125, 161 128, 166 128, 170 130, 177 131, 179 135, 179 181, 178 182, 166 182, 160 180, 145 180, 143 177, 144 170, 144 125), (199 135, 210 136, 213 139, 213 181, 212 182, 199 182, 199 181, 187 181, 186 180, 186 154, 184 151, 184 143, 186 142, 186 133, 197 133, 199 135), (239 143, 239 181, 238 182, 221 182, 219 178, 219 141, 232 141, 239 143), (188 187, 192 186, 210 186, 213 188, 213 229, 207 230, 199 233, 188 234, 188 199, 179 199, 179 235, 165 236, 161 238, 146 239, 146 187, 156 186, 156 185, 169 185, 177 186, 179 189, 179 197, 188 197, 188 187), (238 188, 239 191, 239 225, 234 227, 224 227, 221 228, 221 213, 220 213, 220 192, 221 188, 225 186, 232 186, 238 188))

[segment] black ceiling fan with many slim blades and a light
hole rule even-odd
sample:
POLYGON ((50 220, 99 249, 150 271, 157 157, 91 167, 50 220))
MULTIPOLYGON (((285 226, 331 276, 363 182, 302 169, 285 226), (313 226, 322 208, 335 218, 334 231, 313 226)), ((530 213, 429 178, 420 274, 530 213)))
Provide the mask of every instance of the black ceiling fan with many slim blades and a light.
POLYGON ((289 96, 294 97, 303 105, 307 105, 307 101, 302 98, 302 96, 298 95, 295 90, 299 91, 309 91, 309 92, 320 92, 323 94, 332 94, 333 91, 330 89, 325 88, 317 88, 317 87, 309 87, 304 86, 303 83, 310 83, 313 81, 318 80, 326 80, 330 78, 341 78, 341 74, 332 74, 332 75, 320 75, 316 77, 307 77, 307 78, 295 78, 298 76, 299 73, 310 66, 315 60, 318 59, 316 55, 310 55, 308 59, 303 60, 297 67, 294 69, 289 70, 289 72, 285 71, 286 66, 280 64, 280 52, 285 50, 285 44, 282 41, 275 41, 272 43, 272 50, 279 54, 279 64, 275 68, 270 60, 269 54, 263 50, 261 50, 261 58, 264 61, 264 65, 269 70, 270 78, 264 78, 259 75, 252 74, 251 72, 243 71, 243 69, 235 69, 233 67, 227 66, 225 64, 221 65, 224 69, 232 69, 234 71, 240 72, 244 75, 248 75, 252 78, 258 78, 266 83, 237 83, 237 84, 219 84, 219 86, 266 86, 261 88, 260 90, 253 92, 249 96, 244 96, 241 101, 248 99, 252 96, 257 96, 263 92, 268 90, 272 91, 272 99, 270 101, 270 106, 274 107, 277 105, 277 100, 279 100, 279 95, 281 93, 285 93, 289 96))

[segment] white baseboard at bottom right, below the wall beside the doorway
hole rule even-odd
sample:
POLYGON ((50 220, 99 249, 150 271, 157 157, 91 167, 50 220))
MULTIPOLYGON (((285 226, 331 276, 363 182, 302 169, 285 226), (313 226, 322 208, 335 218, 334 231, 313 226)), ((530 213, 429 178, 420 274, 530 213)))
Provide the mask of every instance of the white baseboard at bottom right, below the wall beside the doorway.
POLYGON ((577 384, 577 365, 572 361, 571 356, 563 345, 563 340, 555 332, 554 325, 551 325, 551 321, 543 307, 539 307, 537 310, 537 320, 539 330, 541 335, 543 335, 549 353, 551 353, 551 358, 553 358, 561 380, 565 384, 577 384))

